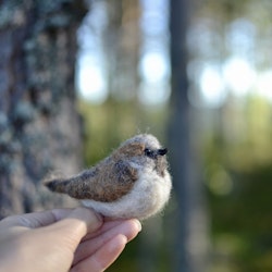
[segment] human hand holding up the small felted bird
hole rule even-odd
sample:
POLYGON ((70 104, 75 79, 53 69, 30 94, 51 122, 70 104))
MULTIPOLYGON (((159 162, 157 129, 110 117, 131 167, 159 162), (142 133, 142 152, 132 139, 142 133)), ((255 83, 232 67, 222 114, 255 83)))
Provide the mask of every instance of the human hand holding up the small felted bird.
POLYGON ((138 220, 103 222, 86 208, 55 209, 0 221, 1 271, 104 271, 140 231, 138 220))

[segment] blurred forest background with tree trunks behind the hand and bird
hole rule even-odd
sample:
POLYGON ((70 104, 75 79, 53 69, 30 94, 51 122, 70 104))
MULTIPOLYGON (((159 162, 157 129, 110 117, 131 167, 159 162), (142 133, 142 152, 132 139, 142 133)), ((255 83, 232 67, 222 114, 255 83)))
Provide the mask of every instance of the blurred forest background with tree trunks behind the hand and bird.
POLYGON ((108 271, 272 271, 271 12, 269 0, 1 1, 0 217, 78 205, 42 178, 152 133, 173 196, 108 271))

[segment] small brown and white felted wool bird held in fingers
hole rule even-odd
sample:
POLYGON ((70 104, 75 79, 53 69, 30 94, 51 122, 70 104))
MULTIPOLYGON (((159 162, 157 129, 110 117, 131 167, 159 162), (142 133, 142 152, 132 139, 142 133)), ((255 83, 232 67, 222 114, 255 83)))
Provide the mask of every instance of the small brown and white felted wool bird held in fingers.
POLYGON ((95 166, 45 185, 107 218, 147 219, 161 211, 170 198, 166 152, 154 136, 136 135, 95 166))

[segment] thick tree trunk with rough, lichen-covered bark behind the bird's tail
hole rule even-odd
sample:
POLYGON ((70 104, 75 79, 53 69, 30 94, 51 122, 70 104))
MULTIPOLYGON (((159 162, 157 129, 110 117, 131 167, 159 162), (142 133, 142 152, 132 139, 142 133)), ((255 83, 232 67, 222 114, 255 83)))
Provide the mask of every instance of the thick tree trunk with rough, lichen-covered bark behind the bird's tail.
POLYGON ((0 4, 0 218, 72 205, 41 180, 82 164, 74 63, 85 12, 78 0, 0 4))

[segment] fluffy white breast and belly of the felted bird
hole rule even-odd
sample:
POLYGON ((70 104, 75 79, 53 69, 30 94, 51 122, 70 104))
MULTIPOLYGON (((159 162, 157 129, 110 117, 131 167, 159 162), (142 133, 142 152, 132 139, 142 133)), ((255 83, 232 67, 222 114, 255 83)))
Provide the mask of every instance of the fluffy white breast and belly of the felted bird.
POLYGON ((171 177, 168 171, 160 176, 150 168, 138 170, 138 181, 133 189, 114 202, 99 202, 83 200, 83 205, 90 207, 108 218, 148 218, 160 211, 170 198, 171 177))

